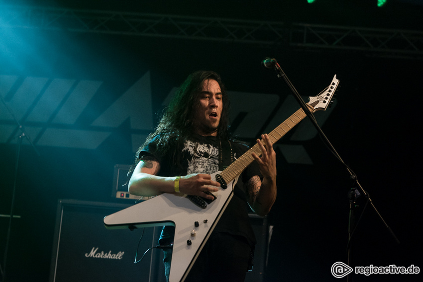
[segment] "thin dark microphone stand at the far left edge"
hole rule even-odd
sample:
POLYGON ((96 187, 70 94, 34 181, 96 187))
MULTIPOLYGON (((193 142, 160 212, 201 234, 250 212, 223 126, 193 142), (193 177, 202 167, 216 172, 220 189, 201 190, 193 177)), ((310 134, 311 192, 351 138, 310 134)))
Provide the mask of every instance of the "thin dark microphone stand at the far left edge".
POLYGON ((14 167, 12 202, 11 202, 11 205, 10 205, 10 214, 6 215, 6 217, 9 217, 9 224, 8 224, 8 227, 7 227, 6 246, 4 248, 4 255, 3 255, 3 269, 1 269, 1 265, 0 265, 2 281, 6 282, 6 261, 7 261, 7 252, 8 252, 9 242, 10 242, 12 218, 13 217, 20 217, 20 216, 15 216, 13 213, 14 213, 14 204, 15 204, 15 196, 16 196, 16 181, 17 181, 17 173, 18 173, 18 167, 19 167, 19 156, 20 156, 20 149, 21 149, 21 146, 22 146, 22 139, 26 138, 29 141, 29 143, 32 145, 32 148, 34 149, 35 153, 38 156, 40 156, 40 153, 38 152, 37 148, 34 146, 32 141, 29 139, 28 135, 25 134, 25 131, 24 131, 22 125, 19 123, 19 121, 13 115, 13 111, 6 104, 6 102, 4 101, 3 97, 1 97, 1 95, 0 95, 0 99, 1 99, 1 102, 3 102, 4 106, 7 108, 7 110, 9 111, 10 115, 13 117, 14 121, 16 122, 16 124, 18 126, 18 131, 20 131, 20 134, 18 136, 17 146, 16 146, 16 163, 15 163, 15 167, 14 167))

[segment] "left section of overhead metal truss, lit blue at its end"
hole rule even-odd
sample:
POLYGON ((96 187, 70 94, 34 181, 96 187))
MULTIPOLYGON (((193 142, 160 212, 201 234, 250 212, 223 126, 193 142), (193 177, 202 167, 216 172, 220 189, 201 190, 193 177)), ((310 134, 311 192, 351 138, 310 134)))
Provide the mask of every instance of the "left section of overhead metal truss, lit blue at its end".
POLYGON ((129 36, 275 44, 280 22, 40 7, 2 9, 2 25, 129 36))

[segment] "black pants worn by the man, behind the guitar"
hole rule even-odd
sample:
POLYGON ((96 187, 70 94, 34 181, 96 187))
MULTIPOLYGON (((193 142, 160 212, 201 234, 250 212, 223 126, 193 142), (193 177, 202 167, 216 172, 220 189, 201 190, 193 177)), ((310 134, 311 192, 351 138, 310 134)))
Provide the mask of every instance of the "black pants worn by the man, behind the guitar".
MULTIPOLYGON (((251 248, 244 237, 213 232, 185 282, 243 282, 251 248)), ((166 250, 164 264, 169 279, 172 250, 166 250)))

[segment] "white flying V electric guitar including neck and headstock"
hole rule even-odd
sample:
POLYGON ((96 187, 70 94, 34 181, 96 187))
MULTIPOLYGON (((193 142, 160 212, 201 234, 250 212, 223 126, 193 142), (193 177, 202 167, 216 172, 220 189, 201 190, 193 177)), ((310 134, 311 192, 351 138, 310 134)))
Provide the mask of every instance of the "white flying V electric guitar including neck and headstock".
MULTIPOLYGON (((333 76, 330 85, 318 96, 309 97, 307 106, 311 112, 325 110, 338 86, 339 80, 333 76)), ((299 109, 285 122, 269 134, 272 143, 281 139, 288 131, 306 117, 299 109)), ((213 192, 215 199, 211 203, 194 203, 190 196, 161 194, 147 201, 107 215, 104 223, 107 229, 135 228, 151 226, 175 226, 172 264, 169 281, 183 282, 194 262, 209 239, 217 221, 233 196, 233 187, 241 172, 252 162, 251 153, 261 154, 258 144, 252 146, 236 161, 223 171, 212 174, 212 178, 221 184, 218 192, 213 192)))

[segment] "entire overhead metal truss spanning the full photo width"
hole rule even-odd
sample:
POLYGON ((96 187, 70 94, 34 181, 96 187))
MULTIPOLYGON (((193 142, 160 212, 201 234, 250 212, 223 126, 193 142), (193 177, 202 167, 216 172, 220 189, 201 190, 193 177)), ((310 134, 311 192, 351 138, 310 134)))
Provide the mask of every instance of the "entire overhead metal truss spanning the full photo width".
POLYGON ((289 45, 306 50, 337 49, 361 51, 370 56, 423 59, 422 31, 48 7, 0 6, 0 9, 0 26, 5 27, 237 42, 264 47, 289 45))

